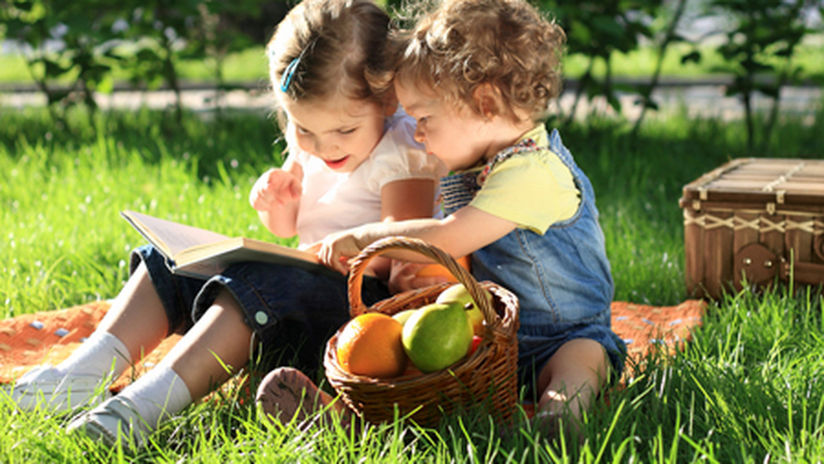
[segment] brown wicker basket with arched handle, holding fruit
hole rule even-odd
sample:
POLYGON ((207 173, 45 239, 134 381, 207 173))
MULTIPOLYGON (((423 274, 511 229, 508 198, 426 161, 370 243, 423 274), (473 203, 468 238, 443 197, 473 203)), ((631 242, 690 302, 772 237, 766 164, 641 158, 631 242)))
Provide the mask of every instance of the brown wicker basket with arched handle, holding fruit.
POLYGON ((518 302, 506 288, 490 282, 478 283, 450 255, 425 241, 408 237, 388 237, 364 249, 354 260, 349 274, 349 313, 365 312, 394 315, 405 309, 434 302, 450 284, 433 285, 364 307, 361 300, 363 272, 374 256, 384 251, 410 250, 444 265, 469 289, 479 303, 486 326, 482 341, 473 354, 452 366, 433 373, 374 378, 353 375, 340 368, 336 344, 340 330, 326 344, 326 377, 346 404, 360 417, 372 423, 408 417, 417 424, 433 426, 443 415, 485 407, 496 419, 511 419, 517 402, 517 328, 518 302), (481 288, 493 296, 490 307, 481 288))

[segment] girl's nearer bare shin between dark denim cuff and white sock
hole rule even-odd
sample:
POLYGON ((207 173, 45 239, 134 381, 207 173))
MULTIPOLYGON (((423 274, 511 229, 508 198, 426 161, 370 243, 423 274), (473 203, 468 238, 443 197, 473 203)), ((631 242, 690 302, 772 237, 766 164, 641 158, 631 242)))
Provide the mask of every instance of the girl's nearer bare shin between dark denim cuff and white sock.
POLYGON ((174 370, 189 387, 192 398, 197 399, 246 365, 251 336, 252 330, 235 298, 224 289, 160 365, 174 370), (224 365, 232 372, 227 372, 224 365))

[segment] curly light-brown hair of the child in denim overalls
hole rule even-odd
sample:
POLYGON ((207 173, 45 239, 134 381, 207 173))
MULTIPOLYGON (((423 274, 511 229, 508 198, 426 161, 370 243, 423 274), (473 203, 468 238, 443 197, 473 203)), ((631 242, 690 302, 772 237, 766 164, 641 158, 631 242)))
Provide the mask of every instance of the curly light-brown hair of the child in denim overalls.
POLYGON ((479 114, 475 89, 491 84, 504 115, 537 121, 560 93, 565 40, 564 30, 525 0, 446 0, 395 36, 394 78, 479 114))

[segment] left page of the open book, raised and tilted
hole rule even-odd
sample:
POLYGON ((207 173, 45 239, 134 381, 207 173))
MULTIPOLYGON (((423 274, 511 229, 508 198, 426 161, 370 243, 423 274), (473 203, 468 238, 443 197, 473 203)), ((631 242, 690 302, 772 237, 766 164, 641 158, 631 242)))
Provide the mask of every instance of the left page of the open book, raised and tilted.
POLYGON ((133 227, 138 229, 143 237, 146 237, 152 245, 161 249, 167 257, 175 259, 175 256, 192 246, 201 246, 208 243, 227 240, 229 237, 218 232, 208 231, 199 227, 185 226, 184 224, 167 221, 166 219, 154 218, 147 214, 135 213, 134 211, 124 211, 124 218, 133 227))

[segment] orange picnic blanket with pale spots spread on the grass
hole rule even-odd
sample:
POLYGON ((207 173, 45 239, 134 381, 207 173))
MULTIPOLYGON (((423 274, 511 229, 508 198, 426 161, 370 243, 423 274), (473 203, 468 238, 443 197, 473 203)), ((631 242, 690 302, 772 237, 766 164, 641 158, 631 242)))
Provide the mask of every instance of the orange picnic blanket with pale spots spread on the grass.
MULTIPOLYGON (((700 325, 705 302, 687 300, 677 306, 653 307, 630 302, 612 303, 612 329, 625 340, 630 364, 641 363, 654 344, 671 352, 690 340, 700 325)), ((66 359, 91 335, 110 302, 97 301, 49 312, 36 312, 0 321, 0 383, 12 382, 41 363, 66 359)), ((172 335, 112 385, 119 391, 146 373, 180 340, 172 335)))

